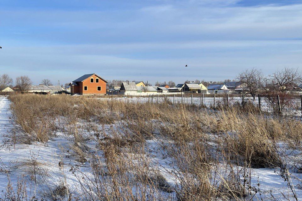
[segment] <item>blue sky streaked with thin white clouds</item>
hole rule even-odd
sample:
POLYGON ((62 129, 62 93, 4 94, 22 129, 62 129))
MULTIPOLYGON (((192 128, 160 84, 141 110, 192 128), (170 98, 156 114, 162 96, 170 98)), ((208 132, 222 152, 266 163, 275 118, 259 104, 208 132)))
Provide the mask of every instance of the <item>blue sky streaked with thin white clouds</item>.
POLYGON ((301 67, 302 0, 0 0, 0 46, 0 74, 33 84, 268 75, 301 67))

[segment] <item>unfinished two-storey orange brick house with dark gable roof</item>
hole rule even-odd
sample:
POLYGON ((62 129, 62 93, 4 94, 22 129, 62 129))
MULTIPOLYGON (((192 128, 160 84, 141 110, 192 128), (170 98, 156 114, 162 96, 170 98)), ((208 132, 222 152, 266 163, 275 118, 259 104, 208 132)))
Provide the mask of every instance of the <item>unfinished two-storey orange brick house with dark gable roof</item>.
POLYGON ((70 93, 81 95, 106 94, 107 81, 95 73, 86 74, 70 83, 70 93))

